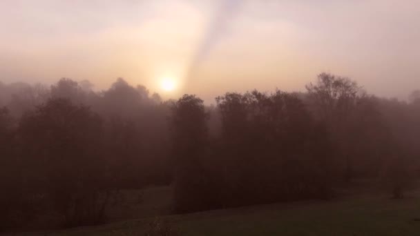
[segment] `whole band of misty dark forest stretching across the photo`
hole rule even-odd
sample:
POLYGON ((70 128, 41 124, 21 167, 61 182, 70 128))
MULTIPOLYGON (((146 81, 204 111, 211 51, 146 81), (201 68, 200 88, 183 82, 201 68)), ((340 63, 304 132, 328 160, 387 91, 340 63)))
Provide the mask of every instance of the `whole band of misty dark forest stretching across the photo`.
POLYGON ((173 187, 173 213, 339 197, 402 199, 420 177, 420 90, 377 97, 321 73, 302 90, 164 101, 117 79, 0 83, 0 228, 103 224, 125 189, 173 187))

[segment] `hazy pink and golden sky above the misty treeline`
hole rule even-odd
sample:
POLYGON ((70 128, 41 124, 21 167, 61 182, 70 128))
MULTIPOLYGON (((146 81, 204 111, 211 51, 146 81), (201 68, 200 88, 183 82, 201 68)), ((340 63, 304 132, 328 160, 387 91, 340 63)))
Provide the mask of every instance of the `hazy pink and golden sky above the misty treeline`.
POLYGON ((320 72, 405 99, 420 88, 420 1, 0 0, 0 81, 117 77, 164 98, 303 91, 320 72), (175 89, 162 88, 171 80, 175 89))

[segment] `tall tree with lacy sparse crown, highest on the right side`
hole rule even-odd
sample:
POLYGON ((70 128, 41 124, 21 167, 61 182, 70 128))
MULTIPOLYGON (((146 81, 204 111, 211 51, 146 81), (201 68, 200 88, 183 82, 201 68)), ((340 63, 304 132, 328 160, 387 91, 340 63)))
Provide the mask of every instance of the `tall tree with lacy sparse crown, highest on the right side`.
POLYGON ((343 170, 345 181, 350 181, 358 172, 356 168, 360 164, 356 164, 354 159, 368 156, 355 153, 361 149, 357 145, 369 141, 364 139, 365 136, 359 131, 363 132, 363 129, 374 128, 376 124, 381 124, 376 108, 365 106, 370 104, 372 99, 365 95, 355 81, 327 73, 318 75, 316 83, 309 83, 306 88, 315 117, 325 124, 334 142, 334 153, 338 164, 336 168, 343 170), (366 108, 371 109, 371 112, 367 112, 366 108), (370 115, 370 118, 366 115, 370 115), (370 122, 371 119, 375 119, 377 123, 367 124, 366 122, 370 122))

